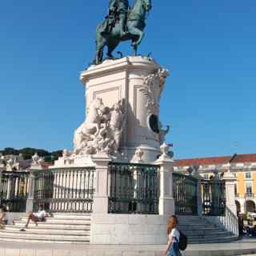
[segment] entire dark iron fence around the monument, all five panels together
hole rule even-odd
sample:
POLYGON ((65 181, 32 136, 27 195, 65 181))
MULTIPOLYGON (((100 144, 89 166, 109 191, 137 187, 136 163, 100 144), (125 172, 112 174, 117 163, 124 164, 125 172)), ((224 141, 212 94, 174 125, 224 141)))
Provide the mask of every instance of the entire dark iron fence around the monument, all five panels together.
MULTIPOLYGON (((2 172, 0 205, 13 212, 26 210, 26 201, 34 210, 42 204, 51 212, 86 212, 93 210, 95 168, 60 168, 2 172), (34 185, 34 186, 32 186, 34 185), (30 197, 29 187, 31 190, 30 197)), ((108 167, 110 214, 158 214, 159 166, 111 162, 108 167)), ((198 202, 202 214, 226 214, 225 181, 202 180, 191 175, 173 174, 175 213, 196 215, 198 202), (201 184, 198 188, 198 184, 201 184), (201 195, 198 191, 201 190, 201 195), (201 198, 198 198, 201 197, 201 198)), ((31 208, 32 209, 32 208, 31 208)))

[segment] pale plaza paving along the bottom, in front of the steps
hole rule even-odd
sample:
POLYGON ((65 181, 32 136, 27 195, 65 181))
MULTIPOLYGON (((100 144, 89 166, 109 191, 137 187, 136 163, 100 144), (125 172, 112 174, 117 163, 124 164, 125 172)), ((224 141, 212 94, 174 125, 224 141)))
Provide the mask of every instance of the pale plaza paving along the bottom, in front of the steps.
MULTIPOLYGON (((102 246, 0 242, 0 256, 162 256, 166 246, 102 246)), ((256 255, 256 240, 190 245, 184 256, 256 255)))

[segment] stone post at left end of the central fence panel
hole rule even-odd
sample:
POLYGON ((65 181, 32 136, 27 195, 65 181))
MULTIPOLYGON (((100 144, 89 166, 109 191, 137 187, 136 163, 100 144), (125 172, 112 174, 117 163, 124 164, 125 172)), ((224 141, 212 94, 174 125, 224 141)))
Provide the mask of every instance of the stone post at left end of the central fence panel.
POLYGON ((95 163, 95 194, 93 203, 94 214, 108 214, 108 197, 110 182, 108 179, 108 165, 110 158, 107 154, 99 153, 93 158, 95 163))

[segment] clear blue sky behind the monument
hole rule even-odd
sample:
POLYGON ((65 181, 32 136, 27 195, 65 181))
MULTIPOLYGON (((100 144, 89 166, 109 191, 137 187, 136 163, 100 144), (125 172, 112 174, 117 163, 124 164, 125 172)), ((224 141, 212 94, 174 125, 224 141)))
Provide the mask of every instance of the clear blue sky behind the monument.
MULTIPOLYGON (((176 158, 256 153, 255 0, 153 0, 140 54, 171 72, 161 119, 176 158)), ((107 1, 3 0, 0 148, 72 148, 79 72, 107 1)), ((130 54, 128 43, 118 47, 130 54)))

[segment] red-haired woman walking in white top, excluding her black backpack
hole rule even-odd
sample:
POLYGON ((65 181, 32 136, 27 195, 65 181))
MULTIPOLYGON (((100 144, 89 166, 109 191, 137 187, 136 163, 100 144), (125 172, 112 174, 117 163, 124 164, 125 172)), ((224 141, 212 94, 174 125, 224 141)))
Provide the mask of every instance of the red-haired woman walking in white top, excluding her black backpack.
POLYGON ((180 250, 178 248, 178 242, 180 233, 177 229, 178 218, 172 216, 167 223, 168 243, 166 246, 166 256, 180 256, 180 250))

